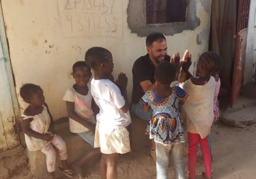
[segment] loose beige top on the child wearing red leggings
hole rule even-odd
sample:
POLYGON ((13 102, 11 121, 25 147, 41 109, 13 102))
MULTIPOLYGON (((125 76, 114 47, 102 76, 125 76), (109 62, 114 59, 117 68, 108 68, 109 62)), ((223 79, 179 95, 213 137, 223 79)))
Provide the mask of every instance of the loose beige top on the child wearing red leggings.
POLYGON ((184 83, 177 83, 188 94, 181 109, 185 129, 190 133, 198 133, 201 138, 210 134, 214 120, 214 90, 215 79, 210 77, 204 85, 195 85, 188 79, 184 83))

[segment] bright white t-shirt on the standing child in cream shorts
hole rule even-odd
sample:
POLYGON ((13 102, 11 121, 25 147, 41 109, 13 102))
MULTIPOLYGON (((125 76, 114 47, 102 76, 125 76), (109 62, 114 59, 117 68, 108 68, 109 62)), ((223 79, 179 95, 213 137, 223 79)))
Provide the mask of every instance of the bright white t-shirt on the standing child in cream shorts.
POLYGON ((91 81, 91 94, 94 101, 99 106, 99 113, 96 116, 100 125, 108 129, 117 129, 121 126, 128 126, 131 123, 129 111, 122 113, 121 109, 125 105, 119 87, 109 79, 94 78, 91 81))

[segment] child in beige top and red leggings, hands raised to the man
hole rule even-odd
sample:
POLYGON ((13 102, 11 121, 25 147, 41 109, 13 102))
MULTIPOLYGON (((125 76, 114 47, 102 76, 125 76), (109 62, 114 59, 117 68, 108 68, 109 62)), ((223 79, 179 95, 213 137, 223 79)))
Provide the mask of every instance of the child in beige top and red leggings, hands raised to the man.
MULTIPOLYGON (((208 135, 214 120, 215 90, 215 79, 211 76, 211 72, 215 69, 214 61, 218 58, 218 55, 211 51, 201 54, 196 66, 199 76, 179 83, 179 86, 183 87, 189 95, 189 99, 181 110, 181 116, 185 121, 185 129, 188 131, 188 174, 190 179, 195 179, 198 143, 200 143, 204 158, 203 177, 211 178, 211 152, 208 135)), ((188 61, 190 63, 190 59, 188 61)), ((186 76, 186 73, 189 73, 188 68, 183 66, 181 75, 186 76)))

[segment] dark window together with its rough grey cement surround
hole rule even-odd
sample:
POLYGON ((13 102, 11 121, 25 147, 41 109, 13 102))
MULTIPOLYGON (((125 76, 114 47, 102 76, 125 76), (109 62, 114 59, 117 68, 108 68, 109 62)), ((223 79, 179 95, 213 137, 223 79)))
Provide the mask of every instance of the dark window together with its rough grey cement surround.
MULTIPOLYGON (((202 1, 205 11, 211 11, 211 2, 202 1)), ((174 35, 184 30, 193 30, 200 25, 196 16, 197 4, 189 0, 129 0, 127 22, 131 33, 146 37, 160 31, 174 35)), ((210 18, 210 16, 209 16, 210 18)))

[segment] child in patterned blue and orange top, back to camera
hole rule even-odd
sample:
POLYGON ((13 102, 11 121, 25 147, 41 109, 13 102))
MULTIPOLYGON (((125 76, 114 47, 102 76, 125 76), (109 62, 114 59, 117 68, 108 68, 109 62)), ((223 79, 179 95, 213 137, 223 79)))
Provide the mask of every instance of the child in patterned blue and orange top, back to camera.
POLYGON ((178 104, 183 105, 187 93, 179 86, 170 87, 176 77, 176 69, 170 62, 156 67, 156 90, 149 90, 141 98, 143 111, 153 110, 150 122, 150 138, 156 142, 157 178, 168 178, 169 153, 171 152, 175 178, 184 179, 183 142, 184 129, 178 104))

